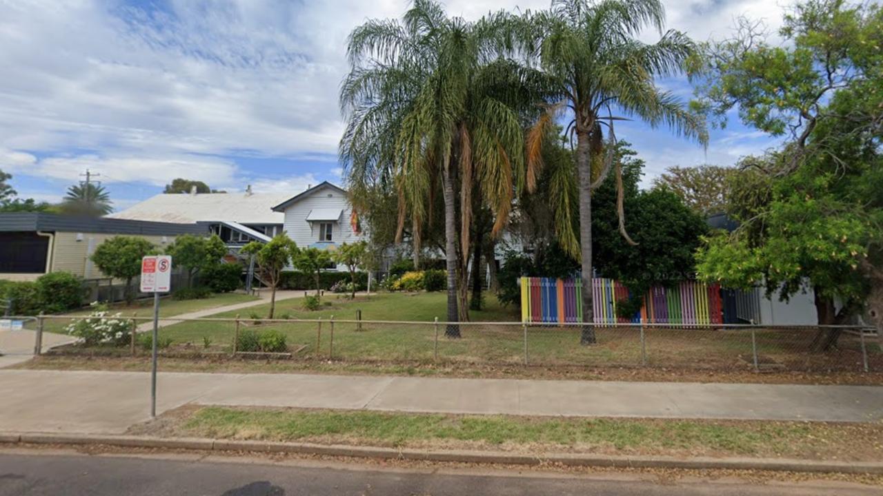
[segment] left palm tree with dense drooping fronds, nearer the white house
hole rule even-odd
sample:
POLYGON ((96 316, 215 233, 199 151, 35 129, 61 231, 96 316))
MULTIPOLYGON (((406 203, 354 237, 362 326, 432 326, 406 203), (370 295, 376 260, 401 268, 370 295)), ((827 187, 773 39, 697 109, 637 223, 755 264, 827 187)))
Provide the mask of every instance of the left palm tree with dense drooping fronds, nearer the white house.
POLYGON ((370 20, 349 39, 341 157, 351 194, 394 184, 399 237, 410 214, 417 247, 441 185, 449 322, 468 319, 473 191, 494 212, 496 235, 530 177, 524 116, 544 86, 539 72, 495 55, 499 19, 448 18, 439 4, 416 0, 401 21, 370 20))

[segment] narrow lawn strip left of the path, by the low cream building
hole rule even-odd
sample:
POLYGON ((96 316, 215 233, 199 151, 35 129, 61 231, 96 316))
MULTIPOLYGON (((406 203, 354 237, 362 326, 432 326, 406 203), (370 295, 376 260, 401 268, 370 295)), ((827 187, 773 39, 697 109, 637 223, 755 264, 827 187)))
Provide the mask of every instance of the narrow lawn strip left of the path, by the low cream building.
MULTIPOLYGON (((173 300, 171 299, 171 297, 163 297, 160 299, 160 317, 173 317, 182 313, 197 312, 200 310, 207 310, 218 306, 225 306, 228 304, 238 304, 255 301, 257 299, 259 298, 253 297, 251 295, 244 295, 241 293, 219 293, 208 298, 179 301, 173 300)), ((153 299, 138 300, 131 305, 125 303, 113 304, 110 307, 111 313, 120 312, 124 317, 131 317, 135 313, 137 313, 140 317, 149 317, 153 315, 153 311, 153 299)), ((76 312, 63 313, 61 314, 61 316, 79 317, 86 316, 90 312, 92 312, 92 310, 83 309, 76 312)), ((71 323, 70 319, 46 319, 43 324, 43 329, 52 333, 64 333, 64 327, 67 326, 69 323, 71 323)), ((32 326, 33 324, 28 327, 32 326)))

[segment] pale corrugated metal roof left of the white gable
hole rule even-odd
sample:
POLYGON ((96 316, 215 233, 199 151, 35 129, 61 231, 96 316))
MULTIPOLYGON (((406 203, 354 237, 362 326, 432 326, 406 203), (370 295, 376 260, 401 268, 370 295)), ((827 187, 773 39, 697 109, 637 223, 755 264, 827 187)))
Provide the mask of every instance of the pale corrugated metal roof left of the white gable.
POLYGON ((290 197, 291 193, 162 193, 107 217, 154 222, 282 224, 285 214, 272 208, 290 197))

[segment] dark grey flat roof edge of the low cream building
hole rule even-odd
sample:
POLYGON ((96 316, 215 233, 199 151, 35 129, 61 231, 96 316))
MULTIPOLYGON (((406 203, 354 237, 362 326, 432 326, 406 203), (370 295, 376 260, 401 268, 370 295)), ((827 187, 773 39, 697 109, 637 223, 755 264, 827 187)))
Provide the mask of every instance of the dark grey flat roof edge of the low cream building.
POLYGON ((30 232, 38 230, 154 236, 208 233, 207 226, 194 223, 145 222, 108 219, 107 217, 75 217, 42 213, 0 214, 0 232, 30 232))

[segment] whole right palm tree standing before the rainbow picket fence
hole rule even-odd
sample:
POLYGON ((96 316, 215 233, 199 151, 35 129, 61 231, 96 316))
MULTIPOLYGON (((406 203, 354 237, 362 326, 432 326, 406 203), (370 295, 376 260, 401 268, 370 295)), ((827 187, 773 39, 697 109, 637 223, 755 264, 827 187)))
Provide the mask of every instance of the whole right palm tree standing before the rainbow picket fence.
MULTIPOLYGON (((685 34, 674 30, 662 34, 664 21, 660 0, 553 0, 548 11, 509 19, 512 46, 545 71, 555 92, 555 100, 529 133, 528 166, 540 162, 542 140, 558 116, 570 116, 565 135, 571 143, 576 136, 579 243, 564 240, 562 244, 581 260, 583 321, 587 323, 593 318, 592 190, 608 177, 614 162, 620 232, 632 243, 623 220, 622 169, 613 160, 614 123, 635 117, 653 127, 667 124, 677 134, 703 144, 707 141, 704 121, 688 112, 673 94, 654 85, 656 76, 685 71, 695 50, 685 34), (636 40, 634 36, 645 26, 655 27, 660 41, 636 40)), ((570 222, 567 216, 556 216, 556 221, 570 222)), ((558 230, 568 228, 562 225, 558 230)), ((584 327, 580 341, 595 342, 592 327, 584 327)))

